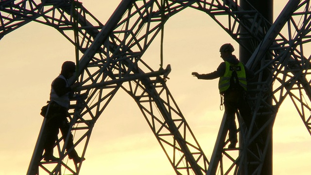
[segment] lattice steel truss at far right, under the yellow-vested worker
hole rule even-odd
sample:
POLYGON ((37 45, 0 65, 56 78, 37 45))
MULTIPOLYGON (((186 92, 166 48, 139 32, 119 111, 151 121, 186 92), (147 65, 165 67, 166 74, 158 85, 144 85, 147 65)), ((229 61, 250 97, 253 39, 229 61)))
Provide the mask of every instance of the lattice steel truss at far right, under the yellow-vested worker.
POLYGON ((232 164, 229 164, 227 166, 228 168, 224 168, 220 165, 222 174, 230 172, 235 165, 237 166, 234 174, 260 174, 261 166, 264 161, 264 155, 266 154, 270 143, 269 140, 271 138, 264 140, 265 145, 263 145, 264 147, 261 146, 261 149, 259 146, 258 153, 252 152, 247 149, 247 147, 254 140, 256 140, 256 137, 258 137, 263 130, 268 129, 270 130, 268 135, 272 134, 272 127, 270 128, 270 126, 273 126, 278 107, 287 95, 289 95, 293 100, 294 105, 296 106, 310 133, 311 118, 310 115, 305 116, 305 112, 310 111, 311 58, 310 56, 307 58, 304 56, 304 49, 307 47, 304 47, 304 44, 310 42, 310 36, 308 35, 309 32, 310 1, 289 1, 286 8, 280 14, 274 25, 270 28, 269 32, 259 44, 259 47, 247 64, 247 66, 257 71, 257 74, 259 75, 259 82, 253 84, 253 86, 256 86, 254 89, 258 89, 257 91, 253 90, 253 92, 255 92, 254 94, 256 94, 256 96, 253 97, 253 122, 249 130, 245 134, 242 133, 242 140, 244 144, 242 145, 242 148, 240 148, 241 153, 238 157, 232 157, 229 153, 230 151, 232 152, 232 150, 221 150, 219 148, 219 145, 224 143, 224 138, 219 138, 223 137, 222 133, 225 132, 220 130, 218 136, 219 140, 217 141, 219 145, 215 146, 215 150, 213 152, 214 157, 212 157, 210 161, 208 173, 215 174, 215 167, 217 167, 217 164, 219 162, 224 162, 224 160, 220 160, 220 156, 223 154, 223 156, 227 157, 229 161, 232 161, 232 164), (286 22, 287 26, 284 26, 286 22), (288 30, 287 37, 279 34, 279 31, 283 28, 283 26, 288 30), (259 69, 256 68, 256 66, 260 66, 259 69), (266 80, 261 78, 264 70, 270 72, 271 75, 266 80), (304 96, 308 96, 306 101, 303 100, 304 96), (271 103, 269 103, 269 101, 271 103), (271 117, 266 122, 262 123, 255 134, 252 134, 255 121, 262 113, 265 113, 264 115, 269 115, 271 117), (255 171, 253 172, 249 172, 246 168, 247 163, 249 162, 243 162, 245 161, 247 155, 249 155, 248 157, 253 157, 255 160, 258 160, 257 162, 252 161, 252 164, 257 164, 257 168, 255 167, 255 171), (227 171, 224 172, 224 170, 227 171))

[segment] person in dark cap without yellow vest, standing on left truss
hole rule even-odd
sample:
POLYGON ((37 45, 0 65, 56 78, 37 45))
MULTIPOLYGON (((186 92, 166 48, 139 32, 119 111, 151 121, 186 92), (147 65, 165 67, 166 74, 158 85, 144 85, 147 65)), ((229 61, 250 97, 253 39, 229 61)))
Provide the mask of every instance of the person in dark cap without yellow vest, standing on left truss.
MULTIPOLYGON (((76 82, 71 86, 68 84, 68 79, 73 76, 75 70, 76 67, 74 62, 64 62, 60 75, 54 79, 51 85, 50 104, 46 115, 46 123, 43 133, 43 137, 45 139, 45 153, 43 155, 43 159, 46 161, 57 161, 59 159, 53 156, 53 148, 59 129, 61 130, 64 140, 66 140, 69 132, 69 122, 67 117, 69 116, 68 110, 70 98, 72 97, 73 89, 80 86, 79 82, 76 82)), ((85 160, 85 158, 79 157, 73 148, 73 136, 71 133, 69 134, 66 149, 69 151, 69 158, 73 159, 75 164, 85 160), (69 151, 71 148, 72 150, 69 151)))

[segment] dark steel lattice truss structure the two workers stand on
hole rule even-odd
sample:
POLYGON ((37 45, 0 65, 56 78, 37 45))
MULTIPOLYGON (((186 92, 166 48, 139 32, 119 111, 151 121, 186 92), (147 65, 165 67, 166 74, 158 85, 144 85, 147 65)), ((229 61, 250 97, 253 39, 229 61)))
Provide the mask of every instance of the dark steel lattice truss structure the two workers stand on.
MULTIPOLYGON (((176 174, 201 175, 217 169, 221 170, 221 174, 241 174, 241 170, 247 171, 246 165, 250 162, 246 157, 249 155, 256 158, 257 162, 252 163, 258 168, 248 173, 260 174, 269 143, 265 142, 258 153, 249 152, 247 146, 274 122, 277 109, 287 95, 311 133, 311 116, 305 113, 310 111, 310 56, 306 58, 303 49, 310 41, 309 3, 309 0, 297 4, 294 0, 289 1, 291 5, 286 8, 292 10, 284 11, 279 17, 285 20, 278 19, 271 26, 256 10, 244 11, 234 0, 122 0, 103 25, 74 0, 3 0, 0 2, 0 36, 36 21, 54 27, 84 53, 79 60, 77 74, 82 83, 81 93, 87 92, 88 98, 72 102, 70 110, 72 132, 76 133, 74 146, 80 151, 79 155, 84 156, 94 124, 121 88, 138 104, 176 174), (218 139, 215 147, 219 149, 213 152, 216 156, 211 158, 212 166, 208 165, 207 157, 166 86, 170 68, 153 70, 142 60, 143 53, 160 32, 161 26, 187 7, 207 13, 241 46, 245 39, 252 41, 248 51, 254 54, 248 66, 254 70, 259 66, 256 72, 259 82, 253 84, 258 91, 252 99, 252 126, 263 112, 271 115, 271 120, 255 135, 252 134, 252 127, 242 133, 244 146, 239 148, 240 152, 238 149, 225 149, 227 140, 218 139), (279 31, 286 21, 283 30, 288 31, 288 35, 285 37, 279 31), (247 33, 241 33, 241 28, 247 33), (75 33, 79 36, 78 40, 74 39, 74 29, 78 31, 75 33), (269 59, 267 54, 272 55, 273 59, 269 59), (269 70, 271 77, 261 81, 263 70, 269 70), (272 99, 272 105, 267 103, 267 99, 272 99)), ((226 133, 225 128, 221 127, 221 133, 226 133)), ((60 161, 44 162, 41 152, 37 151, 40 149, 39 137, 28 175, 37 171, 40 174, 62 174, 63 171, 79 174, 82 163, 74 165, 67 162, 66 143, 66 140, 59 138, 55 144, 60 161)))

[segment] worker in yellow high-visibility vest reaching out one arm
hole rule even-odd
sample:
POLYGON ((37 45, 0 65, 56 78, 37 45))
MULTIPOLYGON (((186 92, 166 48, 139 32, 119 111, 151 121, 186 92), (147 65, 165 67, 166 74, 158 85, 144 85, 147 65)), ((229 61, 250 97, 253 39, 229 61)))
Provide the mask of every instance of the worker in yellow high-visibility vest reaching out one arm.
POLYGON ((248 70, 235 55, 234 48, 227 43, 220 47, 220 57, 223 58, 217 70, 207 74, 192 72, 192 75, 198 79, 211 80, 219 78, 219 91, 224 97, 226 125, 229 130, 230 144, 228 148, 235 148, 238 142, 237 125, 235 123, 235 114, 239 109, 246 125, 250 124, 251 109, 247 103, 245 93, 247 90, 246 78, 253 78, 254 73, 248 70))

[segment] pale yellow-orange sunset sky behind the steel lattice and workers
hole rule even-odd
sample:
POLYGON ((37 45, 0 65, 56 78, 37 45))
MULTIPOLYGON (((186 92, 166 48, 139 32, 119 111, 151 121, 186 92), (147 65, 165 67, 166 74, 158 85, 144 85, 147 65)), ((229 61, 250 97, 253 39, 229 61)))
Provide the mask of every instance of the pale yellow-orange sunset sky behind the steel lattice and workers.
MULTIPOLYGON (((79 0, 105 23, 120 0, 79 0)), ((274 19, 286 0, 274 0, 274 19)), ((239 45, 207 14, 186 9, 165 24, 164 67, 171 64, 167 85, 196 139, 210 159, 223 112, 218 80, 198 80, 222 62, 219 47, 239 45)), ((31 22, 0 40, 0 175, 25 175, 49 99, 52 80, 66 60, 75 61, 74 46, 56 30, 31 22)), ((143 55, 157 70, 159 36, 143 55)), ((291 101, 286 100, 274 126, 273 172, 310 172, 311 136, 291 101)), ((119 91, 92 132, 80 175, 174 175, 167 157, 131 97, 119 91)))

